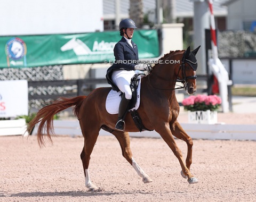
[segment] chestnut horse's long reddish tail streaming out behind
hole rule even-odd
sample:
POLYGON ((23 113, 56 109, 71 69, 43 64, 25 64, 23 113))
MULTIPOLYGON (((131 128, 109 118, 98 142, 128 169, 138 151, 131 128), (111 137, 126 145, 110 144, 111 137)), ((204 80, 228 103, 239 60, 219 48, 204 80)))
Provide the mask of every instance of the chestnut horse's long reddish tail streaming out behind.
POLYGON ((52 104, 43 107, 38 111, 36 117, 28 123, 27 131, 30 133, 35 125, 40 122, 37 129, 37 141, 39 146, 45 145, 44 131, 47 138, 52 142, 51 136, 53 131, 53 117, 55 114, 74 106, 74 114, 78 117, 79 108, 86 96, 77 96, 74 98, 60 98, 55 100, 52 104), (45 129, 45 130, 44 130, 45 129))

